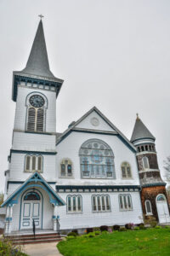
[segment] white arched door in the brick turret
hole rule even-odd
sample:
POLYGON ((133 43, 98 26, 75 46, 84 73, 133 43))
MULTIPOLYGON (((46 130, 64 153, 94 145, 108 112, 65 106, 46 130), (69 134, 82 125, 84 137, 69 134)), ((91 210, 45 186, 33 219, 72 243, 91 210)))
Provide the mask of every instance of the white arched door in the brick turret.
POLYGON ((166 200, 165 195, 157 195, 156 207, 157 207, 159 222, 160 223, 169 223, 170 217, 169 217, 169 210, 167 207, 167 200, 166 200))

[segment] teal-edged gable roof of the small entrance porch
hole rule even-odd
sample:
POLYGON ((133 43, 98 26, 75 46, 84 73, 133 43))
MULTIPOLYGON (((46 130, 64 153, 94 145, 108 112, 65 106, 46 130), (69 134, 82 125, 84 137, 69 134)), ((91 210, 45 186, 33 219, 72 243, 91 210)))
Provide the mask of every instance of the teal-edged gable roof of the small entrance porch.
POLYGON ((20 196, 22 191, 24 189, 26 189, 26 186, 28 185, 28 183, 31 183, 31 182, 34 182, 33 184, 31 184, 32 187, 34 186, 34 184, 37 185, 37 182, 41 182, 43 184, 43 186, 46 188, 48 193, 50 193, 50 195, 54 196, 54 201, 52 199, 50 200, 51 203, 58 203, 60 206, 65 205, 65 201, 63 201, 61 199, 61 197, 46 182, 46 180, 42 177, 42 175, 39 172, 34 172, 33 174, 31 174, 30 177, 28 177, 26 179, 25 183, 21 184, 18 189, 15 189, 14 192, 11 195, 8 196, 8 198, 3 202, 1 207, 5 207, 6 205, 9 205, 9 204, 18 203, 18 197, 20 196), (14 199, 15 196, 17 197, 17 199, 14 199))

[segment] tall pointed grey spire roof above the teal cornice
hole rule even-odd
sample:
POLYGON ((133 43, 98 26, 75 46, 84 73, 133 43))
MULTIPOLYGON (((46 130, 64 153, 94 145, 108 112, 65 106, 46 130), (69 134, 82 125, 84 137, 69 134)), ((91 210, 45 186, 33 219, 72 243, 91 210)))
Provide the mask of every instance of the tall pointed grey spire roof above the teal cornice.
POLYGON ((40 20, 37 27, 36 37, 31 47, 31 53, 29 55, 26 67, 20 71, 20 73, 27 75, 35 75, 45 77, 46 79, 57 79, 49 69, 48 52, 45 43, 45 37, 43 32, 42 20, 40 20))

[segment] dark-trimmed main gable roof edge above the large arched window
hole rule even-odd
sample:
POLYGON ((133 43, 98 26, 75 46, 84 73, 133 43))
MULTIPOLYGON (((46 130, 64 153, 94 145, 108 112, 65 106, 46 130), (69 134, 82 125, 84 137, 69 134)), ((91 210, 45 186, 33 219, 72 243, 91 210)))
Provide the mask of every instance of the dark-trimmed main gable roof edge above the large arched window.
MULTIPOLYGON (((122 134, 122 132, 121 131, 119 131, 117 128, 116 128, 116 126, 115 125, 113 125, 112 123, 111 123, 111 121, 109 120, 109 119, 107 119, 106 117, 105 117, 105 115, 103 114, 103 113, 101 113, 100 111, 99 111, 99 109, 98 108, 96 108, 95 106, 94 106, 94 108, 91 108, 87 113, 85 113, 83 116, 82 116, 82 118, 80 118, 80 119, 78 119, 76 122, 72 122, 71 124, 72 125, 69 125, 69 128, 66 130, 66 131, 64 131, 58 138, 57 138, 57 141, 56 141, 56 144, 59 144, 63 139, 65 139, 65 137, 67 137, 70 133, 71 133, 71 131, 85 131, 84 129, 82 129, 82 128, 77 128, 76 126, 78 125, 78 124, 80 124, 81 122, 82 122, 82 120, 83 119, 85 119, 90 113, 92 113, 93 111, 95 111, 96 113, 98 113, 99 114, 99 116, 102 118, 102 119, 104 119, 105 120, 105 122, 108 124, 108 125, 110 125, 111 126, 111 128, 114 130, 114 131, 110 131, 110 132, 108 132, 108 133, 110 133, 110 134, 116 134, 117 136, 119 136, 120 137, 120 139, 122 139, 122 141, 124 142, 124 143, 127 143, 127 145, 128 145, 128 147, 130 147, 134 152, 136 152, 136 148, 133 146, 133 144, 127 139, 127 137, 125 137, 123 134, 122 134)), ((98 132, 97 130, 87 130, 87 131, 94 131, 94 132, 98 132)), ((105 132, 104 132, 105 133, 105 132)))

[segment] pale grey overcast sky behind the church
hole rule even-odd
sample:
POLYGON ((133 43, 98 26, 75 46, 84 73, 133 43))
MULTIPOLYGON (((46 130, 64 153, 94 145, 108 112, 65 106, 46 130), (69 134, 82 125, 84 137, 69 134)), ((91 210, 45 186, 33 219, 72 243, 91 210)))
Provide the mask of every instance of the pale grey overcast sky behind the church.
POLYGON ((139 113, 156 137, 163 176, 170 155, 170 1, 0 0, 0 190, 14 127, 12 72, 26 67, 40 14, 50 69, 65 80, 57 131, 96 106, 130 139, 139 113))

